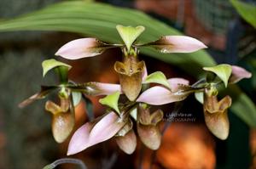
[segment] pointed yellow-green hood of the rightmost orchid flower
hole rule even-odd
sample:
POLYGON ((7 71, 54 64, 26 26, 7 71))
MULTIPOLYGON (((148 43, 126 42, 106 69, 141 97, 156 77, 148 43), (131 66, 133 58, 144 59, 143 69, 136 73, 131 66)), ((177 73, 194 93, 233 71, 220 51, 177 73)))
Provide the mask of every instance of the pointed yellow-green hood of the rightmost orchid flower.
POLYGON ((213 67, 204 67, 203 70, 215 73, 224 82, 225 87, 227 87, 230 75, 232 73, 231 65, 215 65, 213 67))

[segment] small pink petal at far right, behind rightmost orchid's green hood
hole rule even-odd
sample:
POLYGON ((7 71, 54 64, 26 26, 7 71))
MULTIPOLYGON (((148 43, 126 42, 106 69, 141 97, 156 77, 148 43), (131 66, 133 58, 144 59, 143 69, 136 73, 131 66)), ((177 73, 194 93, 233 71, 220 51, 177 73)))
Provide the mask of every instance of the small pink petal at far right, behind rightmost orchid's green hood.
POLYGON ((249 71, 243 69, 240 66, 232 65, 232 74, 230 76, 230 83, 236 83, 241 81, 243 78, 250 78, 252 76, 252 73, 249 71))

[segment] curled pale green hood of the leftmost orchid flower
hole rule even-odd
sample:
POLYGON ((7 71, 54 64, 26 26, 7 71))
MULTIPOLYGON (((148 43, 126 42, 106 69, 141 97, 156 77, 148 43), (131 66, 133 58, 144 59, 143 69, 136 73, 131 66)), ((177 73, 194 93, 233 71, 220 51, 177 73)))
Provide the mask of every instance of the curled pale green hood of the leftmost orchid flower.
POLYGON ((70 70, 72 67, 71 65, 67 65, 67 64, 57 61, 55 59, 47 59, 47 60, 44 60, 44 62, 42 63, 43 76, 45 76, 49 70, 52 70, 59 66, 67 67, 68 70, 70 70))

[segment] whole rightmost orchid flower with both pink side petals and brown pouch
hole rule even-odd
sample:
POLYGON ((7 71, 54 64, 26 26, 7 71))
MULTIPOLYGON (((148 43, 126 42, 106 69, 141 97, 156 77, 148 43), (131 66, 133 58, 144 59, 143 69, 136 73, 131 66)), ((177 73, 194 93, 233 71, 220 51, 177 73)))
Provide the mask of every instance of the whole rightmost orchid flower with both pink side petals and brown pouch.
POLYGON ((201 98, 205 98, 205 100, 207 100, 204 104, 204 115, 207 127, 217 138, 225 139, 229 135, 227 109, 231 105, 231 99, 229 96, 226 96, 224 99, 218 102, 216 96, 218 94, 218 90, 216 86, 218 86, 219 82, 223 82, 224 85, 227 86, 228 83, 231 84, 239 82, 243 78, 250 78, 252 74, 236 65, 217 65, 213 67, 206 67, 204 70, 212 72, 214 75, 216 75, 211 82, 206 82, 203 84, 198 83, 197 87, 196 85, 190 87, 188 81, 180 78, 172 78, 168 80, 170 87, 151 87, 138 97, 137 102, 152 105, 169 104, 185 99, 190 93, 196 93, 198 99, 199 92, 202 94, 201 98), (205 89, 202 90, 203 88, 205 89), (205 93, 205 95, 203 93, 205 93), (209 100, 212 100, 212 102, 209 100), (222 105, 225 105, 225 107, 222 105), (209 112, 212 111, 219 113, 215 113, 214 115, 213 113, 209 114, 209 112))

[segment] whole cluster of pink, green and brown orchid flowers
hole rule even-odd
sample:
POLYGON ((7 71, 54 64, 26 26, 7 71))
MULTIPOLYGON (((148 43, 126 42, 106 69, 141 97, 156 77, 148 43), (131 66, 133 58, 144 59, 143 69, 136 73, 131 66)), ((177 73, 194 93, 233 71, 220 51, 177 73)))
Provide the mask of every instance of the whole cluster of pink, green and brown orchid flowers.
MULTIPOLYGON (((92 121, 86 122, 74 132, 70 140, 67 155, 73 155, 88 147, 115 138, 118 146, 126 154, 132 154, 137 147, 138 138, 149 149, 159 149, 161 132, 160 121, 164 112, 155 110, 154 105, 172 104, 195 94, 201 104, 206 125, 217 138, 226 139, 230 124, 227 110, 231 105, 230 96, 218 101, 218 90, 228 84, 239 82, 242 78, 251 77, 251 73, 236 65, 216 65, 204 67, 206 76, 189 85, 183 78, 169 78, 156 71, 148 75, 146 64, 139 60, 140 48, 155 48, 160 53, 191 53, 207 48, 202 42, 192 37, 165 36, 154 42, 139 43, 138 37, 143 33, 143 26, 117 25, 122 44, 109 44, 96 38, 81 38, 67 42, 55 55, 65 59, 82 59, 102 54, 108 48, 120 48, 122 62, 116 61, 114 70, 119 74, 119 84, 102 82, 84 82, 76 84, 68 80, 67 71, 72 67, 55 59, 43 62, 43 75, 55 70, 60 84, 42 86, 39 93, 34 94, 20 104, 24 107, 37 99, 44 99, 49 93, 58 90, 60 105, 47 101, 45 110, 53 115, 52 132, 56 142, 62 143, 71 134, 74 127, 74 107, 87 96, 106 95, 99 102, 108 106, 106 113, 92 121), (154 83, 154 87, 151 84, 154 83), (119 99, 123 95, 122 99, 119 99)), ((167 56, 166 56, 167 57, 167 56)))

